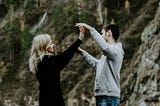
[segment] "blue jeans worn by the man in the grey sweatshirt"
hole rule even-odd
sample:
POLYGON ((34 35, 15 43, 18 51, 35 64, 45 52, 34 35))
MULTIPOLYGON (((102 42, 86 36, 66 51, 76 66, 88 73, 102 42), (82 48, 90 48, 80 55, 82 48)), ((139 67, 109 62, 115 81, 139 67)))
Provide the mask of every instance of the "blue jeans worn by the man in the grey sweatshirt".
POLYGON ((113 96, 96 96, 96 106, 119 106, 120 98, 113 96))

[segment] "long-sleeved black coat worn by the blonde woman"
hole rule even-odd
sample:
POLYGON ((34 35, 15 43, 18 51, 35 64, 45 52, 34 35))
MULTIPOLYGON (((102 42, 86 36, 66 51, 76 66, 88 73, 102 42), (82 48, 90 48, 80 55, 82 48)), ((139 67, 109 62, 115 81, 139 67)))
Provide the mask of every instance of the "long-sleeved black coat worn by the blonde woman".
POLYGON ((60 87, 60 71, 69 63, 82 43, 77 39, 60 55, 45 55, 38 63, 39 106, 65 106, 60 87))

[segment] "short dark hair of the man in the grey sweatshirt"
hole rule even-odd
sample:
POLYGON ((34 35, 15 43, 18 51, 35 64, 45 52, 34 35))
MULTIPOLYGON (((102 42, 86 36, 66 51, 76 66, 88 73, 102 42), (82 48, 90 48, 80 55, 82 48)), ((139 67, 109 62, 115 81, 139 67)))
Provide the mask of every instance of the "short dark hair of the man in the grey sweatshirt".
POLYGON ((116 24, 109 24, 107 26, 104 26, 105 31, 107 32, 108 30, 112 31, 112 35, 113 38, 115 39, 115 41, 118 39, 119 37, 119 28, 116 24))

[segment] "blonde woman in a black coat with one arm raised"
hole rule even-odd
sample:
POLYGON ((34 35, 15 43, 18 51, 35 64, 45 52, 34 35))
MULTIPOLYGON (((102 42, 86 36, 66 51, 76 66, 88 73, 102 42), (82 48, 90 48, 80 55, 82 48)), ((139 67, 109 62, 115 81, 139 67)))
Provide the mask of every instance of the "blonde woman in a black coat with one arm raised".
POLYGON ((40 34, 33 39, 29 58, 30 71, 39 82, 39 106, 65 106, 60 87, 60 71, 69 63, 82 43, 83 35, 63 53, 54 54, 55 44, 50 35, 40 34))

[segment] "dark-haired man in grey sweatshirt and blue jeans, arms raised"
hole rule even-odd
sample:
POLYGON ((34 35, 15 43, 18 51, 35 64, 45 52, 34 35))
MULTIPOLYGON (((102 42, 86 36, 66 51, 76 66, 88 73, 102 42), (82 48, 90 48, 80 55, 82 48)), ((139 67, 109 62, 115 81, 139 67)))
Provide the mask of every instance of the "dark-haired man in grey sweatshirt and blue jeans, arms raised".
POLYGON ((94 92, 97 106, 119 106, 120 104, 120 70, 123 62, 124 51, 120 42, 117 25, 110 24, 102 29, 100 35, 95 28, 85 24, 77 23, 80 34, 89 30, 91 37, 95 40, 102 51, 100 59, 91 56, 85 50, 79 48, 79 52, 85 60, 96 70, 94 92), (82 30, 83 29, 83 30, 82 30))

